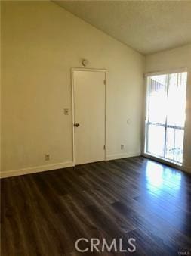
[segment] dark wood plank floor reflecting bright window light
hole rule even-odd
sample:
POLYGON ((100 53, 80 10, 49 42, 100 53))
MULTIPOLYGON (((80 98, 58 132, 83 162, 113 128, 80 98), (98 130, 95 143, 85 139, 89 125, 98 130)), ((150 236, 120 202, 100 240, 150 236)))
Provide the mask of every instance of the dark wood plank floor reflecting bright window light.
POLYGON ((191 254, 191 177, 171 167, 136 157, 16 176, 1 185, 2 256, 191 254), (122 238, 122 248, 134 238, 137 249, 80 254, 75 241, 82 237, 122 238))

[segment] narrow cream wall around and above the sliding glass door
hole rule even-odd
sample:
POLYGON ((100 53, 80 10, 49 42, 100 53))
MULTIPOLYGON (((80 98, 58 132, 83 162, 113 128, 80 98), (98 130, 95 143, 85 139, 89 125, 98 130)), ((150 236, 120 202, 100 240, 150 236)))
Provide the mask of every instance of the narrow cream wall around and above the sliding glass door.
POLYGON ((188 68, 183 168, 191 172, 191 44, 146 56, 146 73, 188 68))

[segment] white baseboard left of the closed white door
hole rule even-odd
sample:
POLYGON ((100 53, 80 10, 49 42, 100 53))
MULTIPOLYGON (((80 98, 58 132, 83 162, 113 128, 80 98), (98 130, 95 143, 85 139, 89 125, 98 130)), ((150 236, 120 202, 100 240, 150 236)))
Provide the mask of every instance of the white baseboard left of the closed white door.
POLYGON ((7 178, 11 176, 18 176, 18 175, 24 175, 29 173, 39 173, 46 170, 56 170, 56 169, 72 167, 72 166, 74 166, 74 163, 72 161, 69 161, 69 162, 63 162, 58 164, 48 164, 48 165, 42 165, 38 167, 23 168, 20 170, 6 170, 0 173, 0 177, 7 178))

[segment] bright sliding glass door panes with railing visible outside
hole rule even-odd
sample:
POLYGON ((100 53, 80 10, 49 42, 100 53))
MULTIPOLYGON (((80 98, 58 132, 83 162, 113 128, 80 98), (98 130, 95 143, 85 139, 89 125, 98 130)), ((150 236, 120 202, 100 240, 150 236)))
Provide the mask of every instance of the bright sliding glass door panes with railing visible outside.
POLYGON ((183 162, 187 73, 147 77, 145 153, 183 162))

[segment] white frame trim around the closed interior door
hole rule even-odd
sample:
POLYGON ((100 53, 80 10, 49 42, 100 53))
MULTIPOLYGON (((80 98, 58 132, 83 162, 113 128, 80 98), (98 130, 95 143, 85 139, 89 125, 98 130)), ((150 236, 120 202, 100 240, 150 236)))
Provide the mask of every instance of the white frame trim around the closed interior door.
POLYGON ((73 164, 75 165, 75 106, 74 106, 74 71, 91 71, 91 72, 104 72, 105 73, 105 161, 106 161, 106 70, 105 69, 92 69, 83 67, 72 67, 71 80, 72 80, 72 147, 73 147, 73 164))

